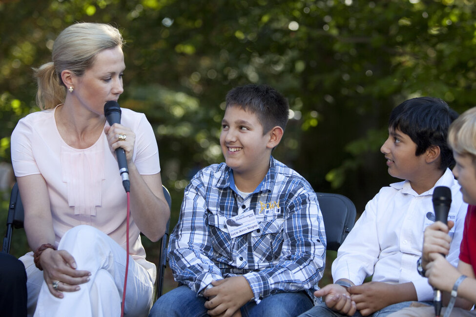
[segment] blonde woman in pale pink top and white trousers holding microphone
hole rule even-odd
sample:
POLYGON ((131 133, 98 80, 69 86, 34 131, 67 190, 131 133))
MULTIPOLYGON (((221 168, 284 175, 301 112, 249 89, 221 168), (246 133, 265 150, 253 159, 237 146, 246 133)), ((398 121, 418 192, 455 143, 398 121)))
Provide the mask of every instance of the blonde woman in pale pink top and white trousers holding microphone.
POLYGON ((12 162, 34 252, 21 257, 32 316, 120 316, 129 239, 124 312, 146 316, 155 265, 140 232, 162 237, 169 209, 162 192, 157 143, 143 114, 122 109, 109 126, 104 103, 123 93, 123 38, 107 24, 76 23, 55 40, 52 62, 36 69, 43 111, 21 119, 12 162), (130 232, 116 148, 130 177, 130 232))

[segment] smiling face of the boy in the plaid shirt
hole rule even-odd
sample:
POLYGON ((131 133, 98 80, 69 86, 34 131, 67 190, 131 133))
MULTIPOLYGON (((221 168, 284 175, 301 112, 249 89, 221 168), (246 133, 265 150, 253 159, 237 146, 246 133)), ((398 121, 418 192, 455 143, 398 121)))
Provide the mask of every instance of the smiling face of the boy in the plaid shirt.
POLYGON ((228 167, 241 177, 266 175, 272 146, 270 135, 254 113, 228 106, 222 120, 220 145, 228 167), (263 174, 264 173, 264 174, 263 174))

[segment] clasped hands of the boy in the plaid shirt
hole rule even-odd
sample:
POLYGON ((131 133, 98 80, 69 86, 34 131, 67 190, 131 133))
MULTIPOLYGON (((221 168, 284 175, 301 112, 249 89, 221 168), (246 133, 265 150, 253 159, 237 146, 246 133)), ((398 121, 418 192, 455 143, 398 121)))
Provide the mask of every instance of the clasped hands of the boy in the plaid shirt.
POLYGON ((253 292, 245 277, 227 277, 211 282, 213 287, 207 289, 204 297, 210 316, 241 316, 240 308, 253 298, 253 292))

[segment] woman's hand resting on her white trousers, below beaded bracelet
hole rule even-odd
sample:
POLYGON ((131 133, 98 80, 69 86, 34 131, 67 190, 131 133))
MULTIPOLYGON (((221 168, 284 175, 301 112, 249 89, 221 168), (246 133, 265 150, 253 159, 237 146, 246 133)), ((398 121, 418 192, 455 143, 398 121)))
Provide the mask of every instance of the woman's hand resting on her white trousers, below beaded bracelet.
POLYGON ((76 261, 65 250, 45 249, 40 256, 43 278, 54 297, 63 298, 62 292, 76 292, 79 284, 89 281, 91 273, 76 270, 76 261), (54 283, 58 285, 55 289, 54 283))

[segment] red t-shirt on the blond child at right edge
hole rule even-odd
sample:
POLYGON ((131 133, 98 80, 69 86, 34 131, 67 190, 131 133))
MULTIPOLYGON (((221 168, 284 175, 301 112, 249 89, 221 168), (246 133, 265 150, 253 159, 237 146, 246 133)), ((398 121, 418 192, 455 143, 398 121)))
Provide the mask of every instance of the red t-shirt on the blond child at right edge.
POLYGON ((476 276, 476 206, 468 205, 464 220, 463 238, 459 248, 459 259, 473 266, 476 276))

